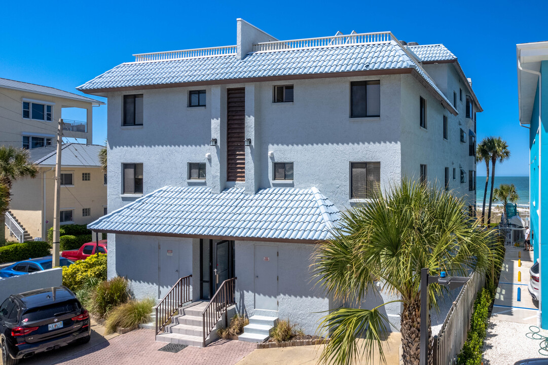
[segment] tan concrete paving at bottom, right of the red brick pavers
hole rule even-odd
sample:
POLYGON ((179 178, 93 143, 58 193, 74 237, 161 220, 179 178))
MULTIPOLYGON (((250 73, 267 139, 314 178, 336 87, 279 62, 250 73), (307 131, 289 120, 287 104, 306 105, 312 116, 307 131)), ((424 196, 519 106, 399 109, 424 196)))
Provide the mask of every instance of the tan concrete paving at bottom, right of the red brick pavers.
MULTIPOLYGON (((384 356, 386 357, 387 365, 399 364, 399 345, 401 344, 401 334, 393 332, 389 338, 385 341, 383 347, 384 356)), ((243 360, 237 363, 237 365, 315 365, 318 363, 319 356, 322 353, 324 345, 318 346, 295 346, 295 347, 281 347, 278 349, 260 349, 255 350, 243 360)), ((357 361, 353 364, 366 364, 365 361, 357 361)), ((370 365, 381 365, 379 353, 375 351, 375 359, 370 365)))

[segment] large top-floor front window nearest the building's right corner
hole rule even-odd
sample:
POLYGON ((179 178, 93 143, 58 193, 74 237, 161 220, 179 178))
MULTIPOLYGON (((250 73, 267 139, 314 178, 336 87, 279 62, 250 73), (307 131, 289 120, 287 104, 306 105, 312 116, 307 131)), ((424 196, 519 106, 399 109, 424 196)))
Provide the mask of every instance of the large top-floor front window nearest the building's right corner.
POLYGON ((380 117, 380 81, 350 83, 350 116, 380 117))

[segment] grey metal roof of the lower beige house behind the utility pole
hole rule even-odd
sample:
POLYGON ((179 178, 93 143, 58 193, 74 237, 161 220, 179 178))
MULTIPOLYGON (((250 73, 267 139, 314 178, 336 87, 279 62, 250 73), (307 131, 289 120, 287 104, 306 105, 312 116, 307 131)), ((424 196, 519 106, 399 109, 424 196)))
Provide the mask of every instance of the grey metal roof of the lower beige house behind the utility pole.
MULTIPOLYGON (((100 167, 99 151, 104 146, 65 143, 61 146, 61 166, 100 167)), ((32 162, 41 166, 55 166, 56 146, 28 150, 32 162)))

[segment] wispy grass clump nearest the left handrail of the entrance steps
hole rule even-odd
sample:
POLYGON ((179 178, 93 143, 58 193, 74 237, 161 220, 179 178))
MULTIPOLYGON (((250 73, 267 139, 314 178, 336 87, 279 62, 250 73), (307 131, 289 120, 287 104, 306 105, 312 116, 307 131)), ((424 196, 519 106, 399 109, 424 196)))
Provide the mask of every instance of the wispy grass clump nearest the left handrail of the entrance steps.
POLYGON ((130 300, 113 308, 105 323, 105 334, 116 332, 118 327, 131 328, 151 321, 154 299, 130 300))

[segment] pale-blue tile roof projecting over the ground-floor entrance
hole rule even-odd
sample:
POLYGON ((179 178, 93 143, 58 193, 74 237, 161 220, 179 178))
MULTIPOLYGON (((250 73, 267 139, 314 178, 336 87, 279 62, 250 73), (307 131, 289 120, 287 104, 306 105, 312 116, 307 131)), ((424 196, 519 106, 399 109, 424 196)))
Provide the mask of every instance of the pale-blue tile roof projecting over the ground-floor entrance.
POLYGON ((90 223, 94 231, 254 239, 328 237, 339 217, 316 187, 269 188, 253 195, 232 187, 165 186, 90 223))

